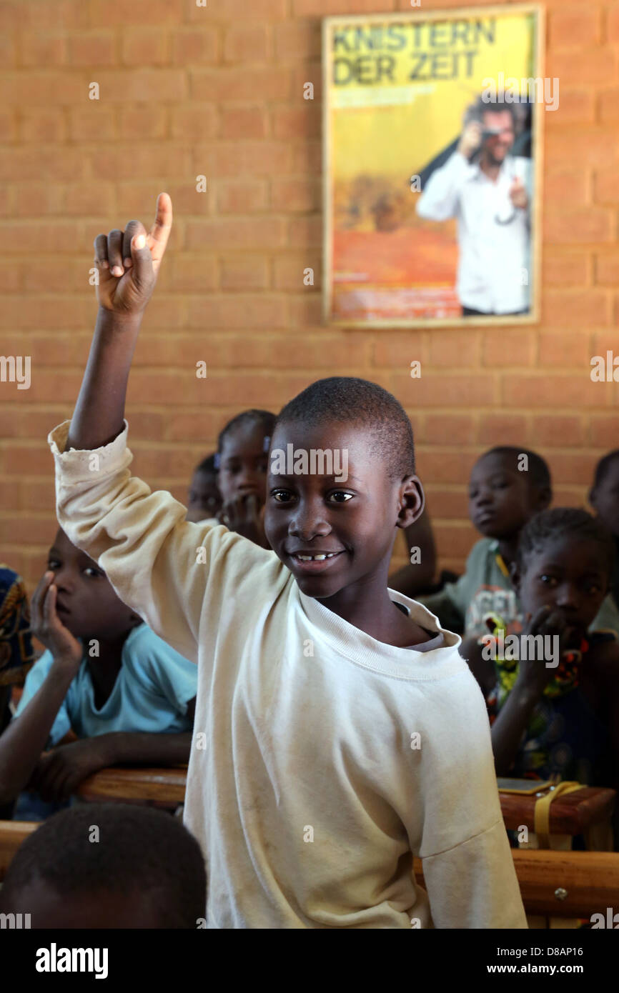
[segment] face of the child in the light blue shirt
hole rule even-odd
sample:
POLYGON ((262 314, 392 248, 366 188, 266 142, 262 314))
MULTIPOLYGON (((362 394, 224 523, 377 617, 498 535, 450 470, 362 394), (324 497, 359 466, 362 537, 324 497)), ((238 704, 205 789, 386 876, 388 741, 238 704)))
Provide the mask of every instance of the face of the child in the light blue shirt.
POLYGON ((75 638, 117 641, 142 623, 117 597, 103 570, 60 527, 48 553, 48 571, 54 573, 58 617, 75 638))

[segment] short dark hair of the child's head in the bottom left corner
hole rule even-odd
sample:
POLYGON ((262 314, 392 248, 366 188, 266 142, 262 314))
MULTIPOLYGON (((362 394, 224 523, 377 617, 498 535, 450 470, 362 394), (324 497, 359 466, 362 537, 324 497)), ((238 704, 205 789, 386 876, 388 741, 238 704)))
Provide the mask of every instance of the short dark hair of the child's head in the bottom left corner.
POLYGON ((59 898, 139 891, 153 894, 162 927, 196 927, 207 878, 200 845, 171 814, 129 803, 83 803, 44 821, 22 843, 6 873, 0 907, 30 883, 59 898), (98 841, 90 841, 93 826, 98 841))

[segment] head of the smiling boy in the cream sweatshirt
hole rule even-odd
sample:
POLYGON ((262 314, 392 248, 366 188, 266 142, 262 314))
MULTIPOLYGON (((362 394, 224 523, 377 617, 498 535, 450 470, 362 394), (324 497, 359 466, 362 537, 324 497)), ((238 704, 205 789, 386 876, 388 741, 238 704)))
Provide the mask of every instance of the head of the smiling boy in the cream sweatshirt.
POLYGON ((333 376, 286 404, 271 439, 264 529, 303 593, 328 598, 377 577, 387 588, 396 528, 423 509, 414 472, 410 421, 382 386, 333 376))

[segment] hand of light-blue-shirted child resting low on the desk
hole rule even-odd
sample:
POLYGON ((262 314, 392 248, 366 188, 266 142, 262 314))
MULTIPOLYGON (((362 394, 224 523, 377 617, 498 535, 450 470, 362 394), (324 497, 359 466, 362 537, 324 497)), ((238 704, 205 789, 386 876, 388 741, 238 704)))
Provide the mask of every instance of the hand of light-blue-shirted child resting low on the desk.
POLYGON ((86 738, 45 753, 35 766, 27 789, 41 793, 47 802, 69 799, 80 782, 109 765, 104 737, 86 738))

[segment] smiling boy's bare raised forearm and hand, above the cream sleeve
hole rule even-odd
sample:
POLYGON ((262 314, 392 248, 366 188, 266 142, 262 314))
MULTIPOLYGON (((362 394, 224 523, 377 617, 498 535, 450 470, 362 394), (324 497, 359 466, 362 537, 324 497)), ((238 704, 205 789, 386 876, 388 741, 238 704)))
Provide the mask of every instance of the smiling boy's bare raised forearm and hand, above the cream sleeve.
POLYGON ((122 430, 131 360, 172 229, 172 201, 157 198, 150 231, 130 220, 94 239, 99 309, 66 451, 94 449, 122 430))

